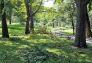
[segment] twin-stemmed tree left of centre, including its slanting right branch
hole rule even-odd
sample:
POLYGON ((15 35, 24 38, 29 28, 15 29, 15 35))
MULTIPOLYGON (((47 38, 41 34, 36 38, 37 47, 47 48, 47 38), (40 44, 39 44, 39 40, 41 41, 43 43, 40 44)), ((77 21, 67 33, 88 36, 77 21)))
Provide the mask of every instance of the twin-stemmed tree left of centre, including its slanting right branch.
POLYGON ((39 11, 39 9, 41 7, 41 4, 42 4, 42 1, 43 0, 41 0, 41 3, 39 5, 38 9, 35 10, 35 12, 33 12, 32 1, 25 0, 25 6, 26 6, 26 11, 27 11, 27 21, 26 21, 25 34, 34 33, 34 20, 33 20, 33 17, 39 11), (30 2, 31 2, 31 4, 30 4, 30 2))

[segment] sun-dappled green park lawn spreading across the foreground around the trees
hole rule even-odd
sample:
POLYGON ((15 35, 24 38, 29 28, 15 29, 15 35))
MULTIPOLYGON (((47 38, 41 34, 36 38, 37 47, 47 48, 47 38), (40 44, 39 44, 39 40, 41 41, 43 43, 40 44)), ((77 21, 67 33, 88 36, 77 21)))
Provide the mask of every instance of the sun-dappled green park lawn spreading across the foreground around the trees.
POLYGON ((24 29, 9 25, 10 38, 0 38, 0 63, 92 63, 92 46, 79 49, 72 46, 73 40, 48 34, 25 35, 24 29))

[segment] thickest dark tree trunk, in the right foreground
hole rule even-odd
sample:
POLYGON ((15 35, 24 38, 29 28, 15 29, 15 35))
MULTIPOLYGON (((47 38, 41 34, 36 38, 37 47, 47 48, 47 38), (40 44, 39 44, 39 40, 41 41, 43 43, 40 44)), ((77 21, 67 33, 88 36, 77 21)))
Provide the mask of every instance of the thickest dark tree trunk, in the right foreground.
POLYGON ((77 6, 77 23, 76 23, 76 36, 75 36, 75 46, 79 48, 86 48, 86 0, 76 0, 77 6))

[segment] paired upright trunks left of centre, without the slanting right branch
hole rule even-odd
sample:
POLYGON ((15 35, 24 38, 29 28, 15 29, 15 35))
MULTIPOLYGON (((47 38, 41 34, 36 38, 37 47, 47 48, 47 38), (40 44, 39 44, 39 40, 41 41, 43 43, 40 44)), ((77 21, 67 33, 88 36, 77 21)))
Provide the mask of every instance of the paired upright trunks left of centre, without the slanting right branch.
POLYGON ((34 32, 34 21, 32 15, 33 12, 29 0, 25 0, 25 5, 27 10, 27 22, 26 22, 25 34, 29 34, 34 32))

